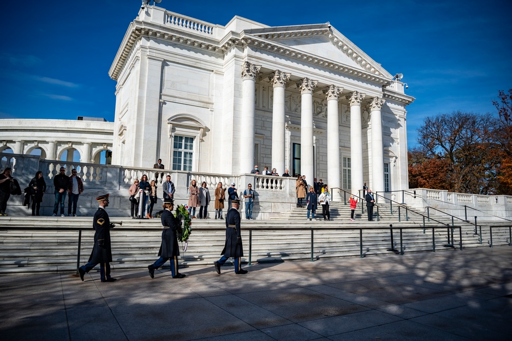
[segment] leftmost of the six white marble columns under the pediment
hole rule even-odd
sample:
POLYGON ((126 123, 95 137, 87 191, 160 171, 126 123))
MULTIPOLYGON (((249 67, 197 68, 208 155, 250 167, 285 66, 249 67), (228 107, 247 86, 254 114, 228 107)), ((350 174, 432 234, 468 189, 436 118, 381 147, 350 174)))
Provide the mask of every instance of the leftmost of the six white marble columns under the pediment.
POLYGON ((260 69, 261 66, 249 62, 242 65, 240 173, 249 173, 254 168, 254 88, 260 69))

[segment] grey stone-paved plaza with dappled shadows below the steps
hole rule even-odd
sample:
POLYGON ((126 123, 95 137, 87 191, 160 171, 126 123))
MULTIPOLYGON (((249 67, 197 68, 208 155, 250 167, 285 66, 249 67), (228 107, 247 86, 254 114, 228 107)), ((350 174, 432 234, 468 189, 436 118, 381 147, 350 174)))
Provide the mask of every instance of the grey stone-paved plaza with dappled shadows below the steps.
POLYGON ((2 340, 510 339, 512 247, 0 277, 2 340), (508 335, 508 336, 507 336, 508 335))

